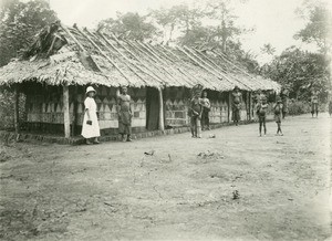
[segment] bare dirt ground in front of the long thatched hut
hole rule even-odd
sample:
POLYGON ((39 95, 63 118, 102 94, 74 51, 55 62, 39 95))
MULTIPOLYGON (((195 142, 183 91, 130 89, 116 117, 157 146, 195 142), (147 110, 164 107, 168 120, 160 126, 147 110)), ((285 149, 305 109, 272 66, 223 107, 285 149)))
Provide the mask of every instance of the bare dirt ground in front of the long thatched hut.
POLYGON ((325 240, 328 114, 94 146, 0 148, 3 240, 325 240), (216 138, 209 138, 211 134, 216 138), (146 154, 144 154, 146 153, 146 154))

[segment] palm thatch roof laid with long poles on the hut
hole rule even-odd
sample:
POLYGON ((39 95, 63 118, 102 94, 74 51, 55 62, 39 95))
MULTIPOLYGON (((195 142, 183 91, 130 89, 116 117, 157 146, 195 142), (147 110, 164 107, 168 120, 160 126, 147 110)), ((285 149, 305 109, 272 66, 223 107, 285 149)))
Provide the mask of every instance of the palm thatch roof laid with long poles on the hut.
POLYGON ((20 59, 0 69, 0 85, 24 81, 188 88, 200 84, 215 91, 280 88, 220 53, 124 40, 60 22, 44 28, 20 59))

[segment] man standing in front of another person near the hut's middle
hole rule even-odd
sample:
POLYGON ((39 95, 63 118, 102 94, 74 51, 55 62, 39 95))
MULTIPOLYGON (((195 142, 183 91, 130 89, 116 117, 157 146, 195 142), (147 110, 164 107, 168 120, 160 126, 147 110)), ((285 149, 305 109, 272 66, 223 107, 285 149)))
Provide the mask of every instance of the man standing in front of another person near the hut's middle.
POLYGON ((190 102, 189 115, 190 115, 190 128, 193 138, 201 138, 200 119, 203 113, 203 106, 200 104, 200 92, 196 91, 195 96, 190 102))

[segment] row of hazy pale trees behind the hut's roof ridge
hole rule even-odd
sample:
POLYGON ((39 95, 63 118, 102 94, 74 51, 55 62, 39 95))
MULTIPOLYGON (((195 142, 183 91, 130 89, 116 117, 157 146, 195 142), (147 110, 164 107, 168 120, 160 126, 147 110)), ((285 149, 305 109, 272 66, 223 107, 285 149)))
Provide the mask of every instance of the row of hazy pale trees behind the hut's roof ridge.
POLYGON ((258 62, 239 41, 240 35, 252 29, 237 24, 232 4, 230 0, 209 0, 205 4, 181 3, 169 9, 151 10, 147 15, 117 13, 116 19, 101 21, 97 29, 111 31, 120 38, 220 51, 241 62, 249 71, 257 72, 258 62))

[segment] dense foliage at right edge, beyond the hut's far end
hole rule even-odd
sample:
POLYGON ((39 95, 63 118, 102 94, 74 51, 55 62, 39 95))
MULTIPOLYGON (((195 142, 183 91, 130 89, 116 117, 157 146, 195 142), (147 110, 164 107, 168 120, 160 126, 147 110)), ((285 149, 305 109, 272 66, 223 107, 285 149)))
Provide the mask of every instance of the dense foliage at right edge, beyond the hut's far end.
MULTIPOLYGON (((294 35, 303 43, 315 44, 317 52, 308 52, 291 46, 264 64, 260 73, 281 83, 290 91, 290 97, 308 101, 313 88, 319 91, 319 98, 325 103, 332 94, 331 86, 331 11, 323 2, 304 1, 298 10, 307 24, 294 35)), ((264 46, 268 52, 271 46, 264 46)))

